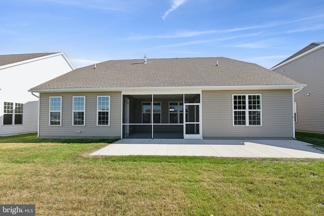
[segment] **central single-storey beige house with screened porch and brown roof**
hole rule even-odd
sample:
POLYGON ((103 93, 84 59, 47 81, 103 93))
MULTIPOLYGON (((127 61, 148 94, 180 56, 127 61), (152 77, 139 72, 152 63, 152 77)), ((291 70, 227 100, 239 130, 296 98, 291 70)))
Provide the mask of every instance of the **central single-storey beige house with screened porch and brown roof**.
POLYGON ((304 84, 228 58, 111 60, 30 89, 41 138, 293 139, 304 84))

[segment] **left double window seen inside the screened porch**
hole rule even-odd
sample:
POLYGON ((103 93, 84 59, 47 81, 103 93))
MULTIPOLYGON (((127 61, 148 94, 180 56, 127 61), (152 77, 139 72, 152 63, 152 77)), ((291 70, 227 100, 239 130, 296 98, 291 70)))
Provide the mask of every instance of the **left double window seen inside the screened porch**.
MULTIPOLYGON (((151 102, 142 102, 142 123, 151 123, 151 102)), ((161 123, 161 102, 153 102, 153 123, 161 123)))

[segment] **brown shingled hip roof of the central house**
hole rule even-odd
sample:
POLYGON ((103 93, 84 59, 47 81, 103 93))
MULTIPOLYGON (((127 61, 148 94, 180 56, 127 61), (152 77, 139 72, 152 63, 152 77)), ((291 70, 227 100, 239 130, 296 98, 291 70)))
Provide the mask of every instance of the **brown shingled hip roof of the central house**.
MULTIPOLYGON (((110 60, 77 68, 30 91, 300 84, 257 64, 224 57, 110 60), (217 65, 218 61, 218 65, 217 65)), ((84 90, 83 90, 84 91, 84 90)))

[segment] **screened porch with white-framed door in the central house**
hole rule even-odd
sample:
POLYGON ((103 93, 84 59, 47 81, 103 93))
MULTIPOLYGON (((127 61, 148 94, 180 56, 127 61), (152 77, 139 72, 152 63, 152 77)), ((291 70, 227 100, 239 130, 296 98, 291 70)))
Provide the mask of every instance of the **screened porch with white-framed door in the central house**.
POLYGON ((202 139, 200 120, 200 93, 123 93, 123 138, 202 139))

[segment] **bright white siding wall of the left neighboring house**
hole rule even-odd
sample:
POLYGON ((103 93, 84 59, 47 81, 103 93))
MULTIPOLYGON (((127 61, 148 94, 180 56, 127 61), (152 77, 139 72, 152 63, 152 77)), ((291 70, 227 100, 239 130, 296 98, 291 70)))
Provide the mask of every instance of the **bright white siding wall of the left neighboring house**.
POLYGON ((37 132, 38 99, 28 90, 71 70, 62 55, 0 69, 0 136, 37 132), (24 104, 23 124, 3 125, 4 102, 24 104))

